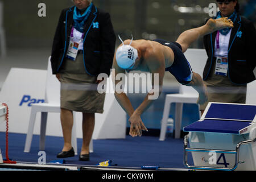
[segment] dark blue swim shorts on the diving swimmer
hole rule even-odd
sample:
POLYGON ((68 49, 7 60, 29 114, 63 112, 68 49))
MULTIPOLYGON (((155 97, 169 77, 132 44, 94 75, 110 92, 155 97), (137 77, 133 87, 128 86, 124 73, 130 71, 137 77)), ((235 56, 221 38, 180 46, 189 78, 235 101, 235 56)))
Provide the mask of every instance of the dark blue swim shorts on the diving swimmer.
POLYGON ((174 63, 171 67, 166 68, 166 71, 170 72, 180 84, 186 85, 192 80, 193 72, 188 60, 185 58, 182 48, 177 42, 168 42, 163 39, 153 40, 164 46, 168 46, 174 51, 174 63))

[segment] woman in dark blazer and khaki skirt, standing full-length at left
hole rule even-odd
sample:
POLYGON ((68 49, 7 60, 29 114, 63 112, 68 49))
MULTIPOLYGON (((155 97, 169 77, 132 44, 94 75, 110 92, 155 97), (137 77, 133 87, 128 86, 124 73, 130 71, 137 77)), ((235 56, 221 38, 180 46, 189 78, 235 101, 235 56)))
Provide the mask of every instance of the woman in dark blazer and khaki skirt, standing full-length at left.
POLYGON ((103 113, 105 94, 97 91, 97 76, 110 75, 115 34, 110 14, 92 0, 73 0, 75 6, 61 12, 53 39, 52 73, 61 83, 60 118, 64 146, 57 158, 75 155, 71 144, 73 111, 82 113, 82 147, 79 160, 89 160, 89 143, 95 113, 103 113))

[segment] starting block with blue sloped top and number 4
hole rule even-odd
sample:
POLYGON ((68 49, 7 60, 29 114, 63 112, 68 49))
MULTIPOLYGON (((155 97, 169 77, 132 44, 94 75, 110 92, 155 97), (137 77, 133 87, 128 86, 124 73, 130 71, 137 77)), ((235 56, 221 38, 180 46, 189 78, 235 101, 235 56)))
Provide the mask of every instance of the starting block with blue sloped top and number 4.
POLYGON ((209 102, 200 120, 183 131, 189 132, 184 137, 186 167, 256 170, 256 105, 209 102), (187 163, 187 152, 194 166, 187 163))

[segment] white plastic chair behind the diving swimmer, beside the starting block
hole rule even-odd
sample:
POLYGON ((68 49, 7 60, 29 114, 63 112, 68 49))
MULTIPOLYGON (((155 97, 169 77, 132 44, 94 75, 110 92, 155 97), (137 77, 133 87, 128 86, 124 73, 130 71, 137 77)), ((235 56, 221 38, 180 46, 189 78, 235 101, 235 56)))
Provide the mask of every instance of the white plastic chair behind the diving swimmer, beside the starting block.
MULTIPOLYGON (((203 76, 203 70, 207 61, 207 54, 204 49, 188 49, 185 52, 185 57, 189 61, 193 72, 199 73, 203 76)), ((175 138, 180 138, 181 120, 183 112, 183 104, 196 104, 199 94, 191 86, 179 86, 179 93, 177 94, 166 94, 166 100, 164 102, 163 118, 160 130, 160 141, 166 138, 167 119, 169 117, 171 104, 176 103, 175 107, 175 138)), ((199 105, 197 105, 199 106, 199 105)), ((199 117, 201 115, 198 107, 199 117)))

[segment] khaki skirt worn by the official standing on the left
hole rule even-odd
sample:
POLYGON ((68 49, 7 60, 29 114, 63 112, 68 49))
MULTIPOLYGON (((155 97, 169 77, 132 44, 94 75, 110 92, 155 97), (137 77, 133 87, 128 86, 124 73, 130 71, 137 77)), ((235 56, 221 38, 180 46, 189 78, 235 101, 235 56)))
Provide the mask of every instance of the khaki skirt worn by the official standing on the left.
POLYGON ((66 59, 60 72, 60 107, 82 113, 103 113, 105 93, 98 93, 96 76, 84 68, 83 55, 66 59))

